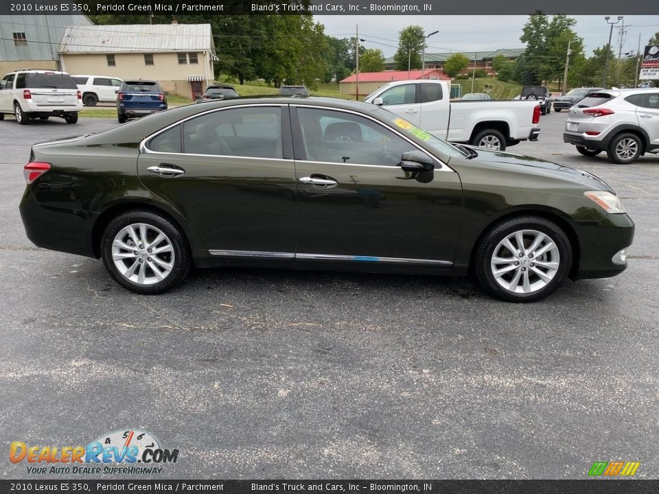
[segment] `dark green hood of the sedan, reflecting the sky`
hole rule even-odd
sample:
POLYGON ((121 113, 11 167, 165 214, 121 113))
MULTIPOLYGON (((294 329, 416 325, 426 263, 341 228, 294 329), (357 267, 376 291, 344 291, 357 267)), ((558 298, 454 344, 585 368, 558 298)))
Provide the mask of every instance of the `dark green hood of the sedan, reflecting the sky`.
POLYGON ((483 167, 501 169, 502 171, 505 170, 516 174, 533 175, 539 179, 552 178, 565 180, 572 183, 579 183, 588 189, 613 192, 604 180, 581 169, 540 158, 533 158, 532 156, 523 156, 522 154, 500 152, 485 148, 476 148, 474 146, 469 146, 469 148, 478 154, 478 156, 475 156, 470 161, 483 167))

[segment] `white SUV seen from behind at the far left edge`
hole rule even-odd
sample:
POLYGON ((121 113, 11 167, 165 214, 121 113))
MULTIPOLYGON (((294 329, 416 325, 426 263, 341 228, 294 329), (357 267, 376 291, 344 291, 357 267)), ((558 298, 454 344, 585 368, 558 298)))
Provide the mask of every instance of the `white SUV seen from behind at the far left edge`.
POLYGON ((0 81, 0 120, 14 115, 21 125, 31 120, 60 117, 78 121, 82 95, 71 75, 62 71, 22 69, 0 81))

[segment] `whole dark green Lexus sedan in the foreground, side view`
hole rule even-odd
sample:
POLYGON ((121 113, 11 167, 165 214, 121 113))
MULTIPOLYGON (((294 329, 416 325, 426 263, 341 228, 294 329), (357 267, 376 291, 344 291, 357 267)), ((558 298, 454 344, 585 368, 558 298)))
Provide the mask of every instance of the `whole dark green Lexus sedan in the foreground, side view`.
POLYGON ((578 169, 452 145, 338 99, 189 105, 36 144, 25 231, 102 258, 159 294, 193 267, 474 274, 531 302, 612 277, 634 237, 614 191, 578 169))

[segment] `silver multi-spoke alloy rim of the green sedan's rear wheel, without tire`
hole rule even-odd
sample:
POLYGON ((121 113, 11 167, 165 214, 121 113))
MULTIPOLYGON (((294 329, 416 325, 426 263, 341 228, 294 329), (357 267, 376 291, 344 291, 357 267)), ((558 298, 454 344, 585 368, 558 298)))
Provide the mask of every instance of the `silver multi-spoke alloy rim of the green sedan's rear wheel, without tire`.
POLYGON ((172 241, 161 229, 135 223, 115 235, 112 259, 127 280, 138 285, 154 285, 172 272, 176 254, 172 241))

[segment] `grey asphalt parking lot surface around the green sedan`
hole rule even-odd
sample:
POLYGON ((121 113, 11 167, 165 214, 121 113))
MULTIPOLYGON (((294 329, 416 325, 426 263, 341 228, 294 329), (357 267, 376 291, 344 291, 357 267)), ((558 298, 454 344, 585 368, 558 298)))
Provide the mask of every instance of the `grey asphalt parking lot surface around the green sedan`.
POLYGON ((3 478, 40 477, 8 461, 12 441, 129 428, 179 449, 157 478, 585 478, 610 460, 658 478, 659 156, 585 158, 565 119, 509 151, 608 181, 636 222, 632 259, 514 305, 466 279, 246 269, 137 296, 100 261, 34 247, 18 212, 32 143, 116 119, 5 118, 3 478))

